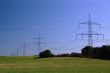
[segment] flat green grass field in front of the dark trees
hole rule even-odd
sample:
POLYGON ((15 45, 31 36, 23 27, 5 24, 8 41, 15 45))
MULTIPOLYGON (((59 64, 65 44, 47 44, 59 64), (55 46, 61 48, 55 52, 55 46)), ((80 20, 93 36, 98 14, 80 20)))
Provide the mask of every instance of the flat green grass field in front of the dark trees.
POLYGON ((110 61, 74 57, 0 57, 0 73, 110 73, 110 61))

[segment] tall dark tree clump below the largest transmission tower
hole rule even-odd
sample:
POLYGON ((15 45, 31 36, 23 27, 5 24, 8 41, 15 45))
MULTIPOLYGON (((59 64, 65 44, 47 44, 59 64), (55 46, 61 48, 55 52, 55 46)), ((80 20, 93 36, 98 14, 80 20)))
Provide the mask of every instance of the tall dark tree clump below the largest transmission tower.
POLYGON ((99 59, 110 59, 110 46, 103 45, 102 47, 86 46, 82 49, 82 56, 99 59))

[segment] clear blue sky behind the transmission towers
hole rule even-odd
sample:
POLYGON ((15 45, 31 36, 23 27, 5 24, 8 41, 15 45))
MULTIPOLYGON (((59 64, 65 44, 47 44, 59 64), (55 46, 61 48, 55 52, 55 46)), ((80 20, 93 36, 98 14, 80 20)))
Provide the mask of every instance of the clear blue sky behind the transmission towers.
POLYGON ((110 0, 0 0, 0 55, 15 55, 17 48, 22 55, 24 41, 26 55, 34 55, 34 38, 39 34, 46 43, 42 50, 80 52, 87 37, 75 40, 75 34, 87 32, 87 26, 79 29, 78 23, 87 21, 89 12, 93 21, 102 24, 102 29, 94 26, 94 32, 105 34, 107 39, 94 41, 94 46, 109 44, 110 0))

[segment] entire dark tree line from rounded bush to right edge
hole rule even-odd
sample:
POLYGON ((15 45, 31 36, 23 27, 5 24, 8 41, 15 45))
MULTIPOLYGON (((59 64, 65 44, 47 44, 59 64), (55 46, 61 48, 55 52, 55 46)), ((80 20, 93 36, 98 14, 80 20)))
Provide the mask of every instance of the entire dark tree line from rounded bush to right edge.
POLYGON ((103 45, 101 47, 85 46, 81 49, 81 53, 72 52, 71 54, 64 53, 54 55, 50 50, 42 51, 39 54, 39 58, 47 57, 86 57, 86 58, 97 58, 97 59, 110 59, 110 46, 103 45))

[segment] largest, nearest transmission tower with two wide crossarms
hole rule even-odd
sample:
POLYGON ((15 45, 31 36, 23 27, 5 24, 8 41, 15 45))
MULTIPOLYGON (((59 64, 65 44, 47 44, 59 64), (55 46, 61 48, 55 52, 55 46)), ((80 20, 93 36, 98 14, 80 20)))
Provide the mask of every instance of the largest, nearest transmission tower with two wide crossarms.
POLYGON ((101 24, 99 24, 97 22, 92 22, 91 21, 91 15, 90 15, 90 13, 89 13, 89 16, 88 16, 88 21, 87 22, 79 23, 79 26, 81 24, 87 24, 88 25, 88 33, 76 34, 76 39, 77 39, 77 36, 78 35, 82 36, 82 39, 83 39, 83 36, 84 35, 87 35, 88 36, 88 46, 93 46, 93 35, 96 35, 97 36, 97 39, 98 39, 99 36, 103 36, 103 40, 104 40, 104 34, 93 33, 92 26, 93 25, 99 25, 99 27, 101 28, 101 24))

